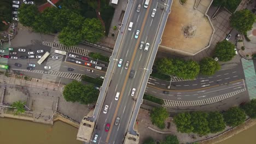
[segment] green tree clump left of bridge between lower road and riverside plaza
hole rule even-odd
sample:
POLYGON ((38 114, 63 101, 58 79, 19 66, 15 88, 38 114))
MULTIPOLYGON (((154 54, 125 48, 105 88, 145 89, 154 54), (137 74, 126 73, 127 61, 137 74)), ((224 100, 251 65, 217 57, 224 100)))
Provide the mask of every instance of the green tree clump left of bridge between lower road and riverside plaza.
POLYGON ((97 101, 99 92, 92 85, 83 85, 82 82, 68 83, 63 90, 63 96, 67 101, 81 104, 90 104, 97 101))

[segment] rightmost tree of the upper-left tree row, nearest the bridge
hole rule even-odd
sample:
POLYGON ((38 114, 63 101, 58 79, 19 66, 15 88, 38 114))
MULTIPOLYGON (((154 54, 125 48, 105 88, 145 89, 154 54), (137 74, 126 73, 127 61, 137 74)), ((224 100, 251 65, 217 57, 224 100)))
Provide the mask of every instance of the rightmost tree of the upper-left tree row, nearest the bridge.
POLYGON ((83 38, 91 43, 96 43, 104 37, 104 28, 98 19, 85 19, 82 28, 83 38))

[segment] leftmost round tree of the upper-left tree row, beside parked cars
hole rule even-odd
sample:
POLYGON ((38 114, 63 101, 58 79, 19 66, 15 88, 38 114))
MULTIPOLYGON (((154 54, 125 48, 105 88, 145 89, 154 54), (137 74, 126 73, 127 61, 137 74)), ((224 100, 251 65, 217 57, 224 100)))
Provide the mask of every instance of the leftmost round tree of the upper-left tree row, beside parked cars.
POLYGON ((33 4, 21 4, 19 11, 19 22, 27 27, 32 27, 36 16, 39 15, 37 7, 33 4))

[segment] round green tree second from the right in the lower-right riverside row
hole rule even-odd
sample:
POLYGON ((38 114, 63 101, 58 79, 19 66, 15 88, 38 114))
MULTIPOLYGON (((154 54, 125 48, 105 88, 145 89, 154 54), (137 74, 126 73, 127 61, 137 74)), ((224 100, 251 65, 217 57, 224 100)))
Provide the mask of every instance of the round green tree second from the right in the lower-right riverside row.
POLYGON ((223 117, 226 125, 235 127, 245 121, 246 114, 245 111, 236 106, 224 112, 223 117))

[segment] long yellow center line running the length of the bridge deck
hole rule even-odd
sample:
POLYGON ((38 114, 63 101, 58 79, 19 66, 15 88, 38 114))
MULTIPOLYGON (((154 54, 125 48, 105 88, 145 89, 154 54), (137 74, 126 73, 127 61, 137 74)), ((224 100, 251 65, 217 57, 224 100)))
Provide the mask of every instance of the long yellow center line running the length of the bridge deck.
MULTIPOLYGON (((151 2, 151 1, 150 1, 150 2, 151 2)), ((135 1, 134 1, 133 3, 135 3, 135 1)), ((148 15, 149 9, 150 9, 150 4, 149 4, 149 7, 148 7, 148 9, 147 9, 146 15, 145 15, 145 17, 144 17, 144 20, 143 20, 143 23, 142 23, 142 28, 141 28, 140 33, 143 32, 144 25, 145 25, 145 22, 146 22, 146 20, 147 20, 147 15, 148 15)), ((114 118, 117 116, 117 112, 118 112, 118 109, 119 109, 119 106, 120 106, 120 103, 121 103, 120 101, 121 101, 121 99, 122 99, 122 97, 123 97, 124 88, 125 88, 125 86, 126 86, 126 82, 127 82, 127 80, 128 80, 128 77, 129 77, 129 74, 130 74, 130 71, 131 71, 131 66, 132 66, 133 60, 134 60, 135 55, 136 55, 136 51, 137 51, 137 47, 138 47, 140 38, 141 38, 141 34, 139 34, 139 37, 138 37, 138 40, 137 40, 137 43, 136 43, 136 47, 135 47, 135 51, 133 52, 133 55, 132 55, 130 67, 129 67, 129 69, 127 70, 128 72, 127 72, 126 77, 125 77, 124 86, 123 86, 122 91, 121 91, 121 93, 120 93, 120 98, 119 98, 119 100, 118 100, 118 105, 117 105, 117 108, 115 109, 115 113, 114 113, 114 116, 113 116, 113 119, 112 119, 112 122, 111 122, 110 125, 113 125, 113 124, 114 124, 114 120, 115 120, 114 118)), ((113 128, 113 127, 110 127, 110 129, 109 129, 108 136, 107 136, 107 139, 106 139, 106 143, 108 143, 109 136, 110 136, 110 134, 111 134, 112 128, 113 128)))

